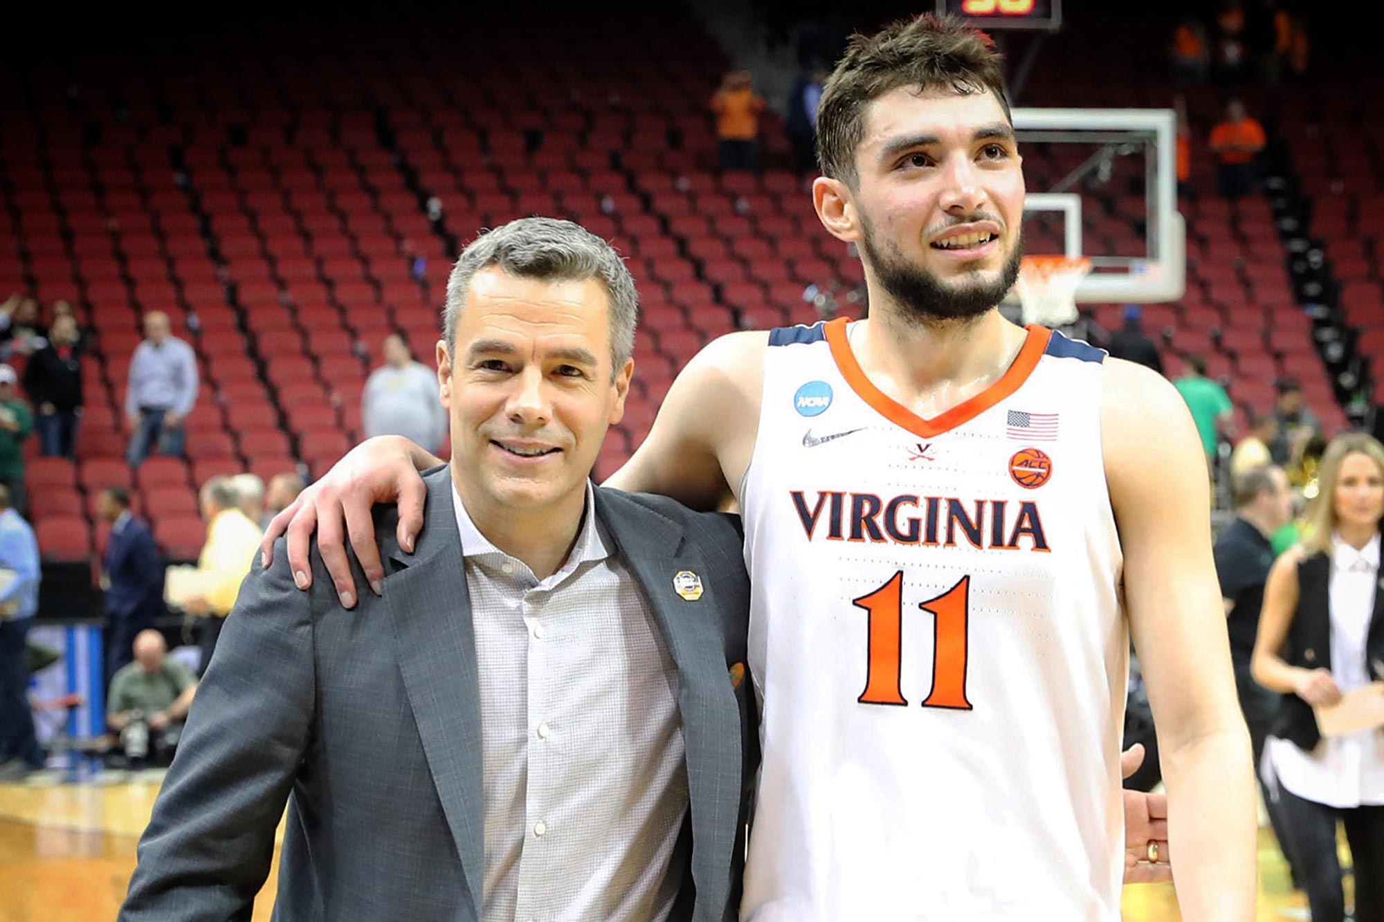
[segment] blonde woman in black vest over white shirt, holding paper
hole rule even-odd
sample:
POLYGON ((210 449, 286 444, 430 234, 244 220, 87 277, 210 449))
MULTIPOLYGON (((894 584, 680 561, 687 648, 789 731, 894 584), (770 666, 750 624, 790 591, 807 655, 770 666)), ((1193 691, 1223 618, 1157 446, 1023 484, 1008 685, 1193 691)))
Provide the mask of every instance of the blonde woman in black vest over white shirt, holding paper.
POLYGON ((1283 692, 1268 743, 1279 807, 1313 922, 1345 918, 1336 824, 1355 868, 1355 922, 1384 919, 1384 732, 1323 736, 1315 709, 1384 680, 1384 446, 1338 436, 1322 457, 1308 540, 1284 552, 1264 590, 1251 669, 1283 692))

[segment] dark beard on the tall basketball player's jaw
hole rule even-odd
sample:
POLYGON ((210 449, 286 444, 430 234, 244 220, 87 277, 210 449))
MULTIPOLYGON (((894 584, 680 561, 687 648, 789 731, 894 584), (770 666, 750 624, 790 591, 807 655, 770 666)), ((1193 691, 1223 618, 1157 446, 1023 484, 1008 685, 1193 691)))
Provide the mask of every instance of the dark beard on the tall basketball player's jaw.
POLYGON ((898 252, 893 244, 879 245, 869 223, 864 223, 864 230, 861 249, 865 259, 880 287, 909 323, 930 325, 972 320, 1003 300, 1019 280, 1019 263, 1024 255, 1023 237, 1014 239, 1014 248, 1005 257, 996 278, 962 277, 956 282, 944 284, 936 274, 898 252))

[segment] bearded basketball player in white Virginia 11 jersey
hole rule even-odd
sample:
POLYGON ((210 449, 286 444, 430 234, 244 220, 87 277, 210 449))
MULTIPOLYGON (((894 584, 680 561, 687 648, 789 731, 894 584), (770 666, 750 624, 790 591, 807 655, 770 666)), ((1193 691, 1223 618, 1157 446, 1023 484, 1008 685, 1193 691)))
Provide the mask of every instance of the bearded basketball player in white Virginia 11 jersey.
MULTIPOLYGON (((990 42, 931 17, 857 36, 818 133, 817 213, 859 246, 869 320, 713 342, 609 482, 745 516, 764 761, 743 918, 1118 919, 1132 634, 1182 918, 1251 919, 1200 443, 1161 377, 999 314, 1024 180, 990 42)), ((320 526, 347 605, 342 514, 376 591, 371 501, 421 522, 392 450, 289 527, 306 572, 320 526)))

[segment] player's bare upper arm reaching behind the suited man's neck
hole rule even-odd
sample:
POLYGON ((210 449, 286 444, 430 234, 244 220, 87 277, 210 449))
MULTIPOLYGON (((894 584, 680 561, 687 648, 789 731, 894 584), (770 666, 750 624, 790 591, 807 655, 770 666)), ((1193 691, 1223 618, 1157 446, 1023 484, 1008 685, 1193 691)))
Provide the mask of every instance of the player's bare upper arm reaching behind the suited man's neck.
POLYGON ((605 486, 662 493, 698 511, 725 508, 754 451, 765 332, 721 336, 668 389, 649 436, 605 486))

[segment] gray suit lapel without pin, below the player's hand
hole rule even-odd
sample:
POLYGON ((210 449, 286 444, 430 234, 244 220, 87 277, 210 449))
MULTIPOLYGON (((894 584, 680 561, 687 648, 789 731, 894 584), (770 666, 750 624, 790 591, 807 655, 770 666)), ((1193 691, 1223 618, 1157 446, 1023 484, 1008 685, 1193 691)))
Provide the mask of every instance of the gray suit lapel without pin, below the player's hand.
POLYGON ((385 577, 383 599, 428 768, 479 916, 484 871, 480 683, 450 471, 443 467, 424 478, 428 500, 417 554, 404 554, 388 539, 388 566, 394 572, 385 577))

